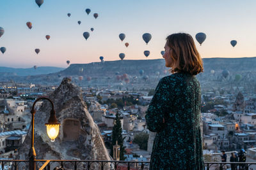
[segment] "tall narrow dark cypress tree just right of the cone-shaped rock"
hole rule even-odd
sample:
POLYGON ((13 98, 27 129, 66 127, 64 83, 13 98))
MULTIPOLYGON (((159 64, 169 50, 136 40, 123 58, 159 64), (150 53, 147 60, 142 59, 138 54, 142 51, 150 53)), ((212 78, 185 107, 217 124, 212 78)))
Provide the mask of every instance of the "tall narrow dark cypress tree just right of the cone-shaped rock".
POLYGON ((116 145, 116 141, 118 145, 120 145, 120 160, 125 160, 124 157, 124 138, 122 137, 122 125, 119 117, 119 113, 116 113, 116 118, 115 118, 115 124, 113 126, 112 130, 112 143, 111 143, 111 150, 110 150, 110 155, 113 157, 113 146, 116 145))

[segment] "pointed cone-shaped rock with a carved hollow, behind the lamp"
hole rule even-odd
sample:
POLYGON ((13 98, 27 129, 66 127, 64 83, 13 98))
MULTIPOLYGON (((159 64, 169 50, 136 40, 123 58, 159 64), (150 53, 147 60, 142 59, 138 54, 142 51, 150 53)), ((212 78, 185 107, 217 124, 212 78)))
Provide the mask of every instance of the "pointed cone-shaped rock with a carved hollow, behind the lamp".
MULTIPOLYGON (((60 134, 54 143, 47 136, 45 123, 51 104, 44 101, 35 114, 36 159, 110 160, 99 128, 87 110, 79 87, 64 78, 49 98, 54 103, 56 117, 61 123, 60 134)), ((30 134, 31 129, 19 151, 19 159, 28 159, 30 134)))

